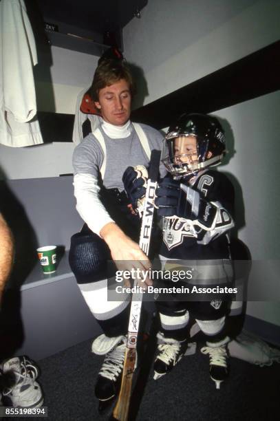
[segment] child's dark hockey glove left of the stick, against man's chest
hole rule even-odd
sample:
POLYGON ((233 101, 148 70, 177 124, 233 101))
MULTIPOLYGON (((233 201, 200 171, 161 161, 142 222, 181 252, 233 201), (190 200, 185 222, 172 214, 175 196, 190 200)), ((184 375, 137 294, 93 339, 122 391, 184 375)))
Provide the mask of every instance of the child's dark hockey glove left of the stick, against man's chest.
MULTIPOLYGON (((140 166, 136 168, 140 168, 140 166)), ((122 182, 129 202, 136 209, 138 207, 138 200, 146 194, 147 178, 142 175, 140 170, 136 171, 133 166, 129 166, 122 175, 122 182)))

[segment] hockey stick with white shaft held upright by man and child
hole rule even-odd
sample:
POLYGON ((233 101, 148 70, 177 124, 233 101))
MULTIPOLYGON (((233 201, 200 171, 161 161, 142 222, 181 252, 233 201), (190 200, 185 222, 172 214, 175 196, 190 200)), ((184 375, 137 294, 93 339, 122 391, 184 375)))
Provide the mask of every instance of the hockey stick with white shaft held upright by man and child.
MULTIPOLYGON (((144 210, 140 231, 139 246, 146 255, 149 255, 151 242, 151 230, 153 225, 153 202, 155 199, 155 188, 157 187, 158 168, 160 165, 160 151, 151 152, 151 161, 149 169, 149 180, 144 201, 144 210)), ((138 280, 135 279, 134 286, 137 286, 138 280)), ((140 290, 138 288, 138 290, 140 290)), ((137 291, 137 290, 136 290, 137 291)), ((113 411, 113 418, 119 421, 127 421, 129 413, 129 401, 132 390, 133 371, 136 363, 136 345, 138 328, 142 307, 141 292, 134 292, 131 298, 131 309, 129 314, 129 328, 127 333, 127 349, 122 371, 122 383, 116 407, 113 411)))

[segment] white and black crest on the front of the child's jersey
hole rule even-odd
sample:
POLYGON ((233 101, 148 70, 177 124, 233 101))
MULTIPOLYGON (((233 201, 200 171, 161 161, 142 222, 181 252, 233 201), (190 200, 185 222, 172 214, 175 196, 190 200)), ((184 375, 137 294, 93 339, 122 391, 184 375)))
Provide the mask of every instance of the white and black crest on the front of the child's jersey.
POLYGON ((192 221, 179 217, 165 217, 163 223, 163 241, 166 247, 179 246, 184 241, 184 237, 196 237, 192 221))

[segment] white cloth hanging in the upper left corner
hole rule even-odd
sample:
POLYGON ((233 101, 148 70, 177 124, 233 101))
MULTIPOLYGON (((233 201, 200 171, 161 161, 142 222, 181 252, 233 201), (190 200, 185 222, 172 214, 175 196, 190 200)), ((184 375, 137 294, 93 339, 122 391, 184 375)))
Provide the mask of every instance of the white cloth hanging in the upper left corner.
POLYGON ((10 147, 43 143, 36 115, 34 35, 23 0, 0 1, 0 142, 10 147))

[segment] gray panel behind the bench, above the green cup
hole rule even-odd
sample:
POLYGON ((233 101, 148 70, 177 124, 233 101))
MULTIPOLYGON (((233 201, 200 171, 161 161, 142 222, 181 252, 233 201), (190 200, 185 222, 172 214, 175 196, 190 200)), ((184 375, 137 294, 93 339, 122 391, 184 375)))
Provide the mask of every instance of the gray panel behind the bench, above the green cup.
POLYGON ((20 224, 21 210, 25 213, 22 222, 28 220, 38 246, 61 245, 68 250, 71 235, 83 224, 76 211, 72 183, 72 176, 1 182, 1 196, 11 224, 15 219, 20 224))

